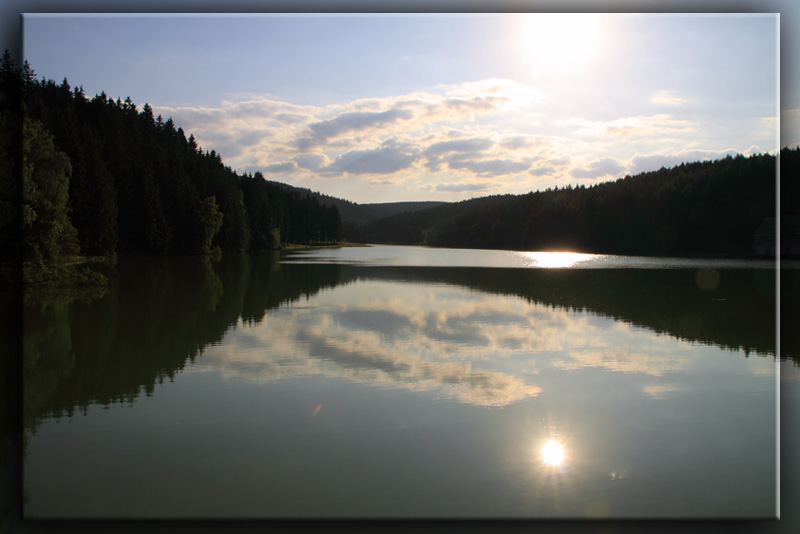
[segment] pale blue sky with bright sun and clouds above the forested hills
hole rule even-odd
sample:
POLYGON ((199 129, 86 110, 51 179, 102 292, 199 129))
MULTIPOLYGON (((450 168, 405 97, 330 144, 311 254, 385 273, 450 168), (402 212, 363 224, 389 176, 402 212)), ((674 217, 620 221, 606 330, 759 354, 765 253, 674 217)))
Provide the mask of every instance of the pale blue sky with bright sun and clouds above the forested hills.
POLYGON ((358 203, 588 187, 800 142, 779 136, 775 14, 22 22, 39 78, 149 103, 239 173, 358 203))

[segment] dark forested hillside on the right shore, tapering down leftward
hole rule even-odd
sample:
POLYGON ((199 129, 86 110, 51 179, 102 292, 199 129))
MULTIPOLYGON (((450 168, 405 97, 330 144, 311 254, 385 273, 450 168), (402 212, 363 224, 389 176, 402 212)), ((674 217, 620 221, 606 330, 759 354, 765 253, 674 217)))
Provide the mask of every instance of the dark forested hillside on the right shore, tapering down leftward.
MULTIPOLYGON (((784 149, 783 213, 797 212, 800 150, 784 149), (794 211, 792 211, 794 210, 794 211)), ((682 163, 591 187, 502 195, 398 214, 365 225, 369 242, 442 247, 685 255, 753 254, 776 213, 776 158, 682 163)))

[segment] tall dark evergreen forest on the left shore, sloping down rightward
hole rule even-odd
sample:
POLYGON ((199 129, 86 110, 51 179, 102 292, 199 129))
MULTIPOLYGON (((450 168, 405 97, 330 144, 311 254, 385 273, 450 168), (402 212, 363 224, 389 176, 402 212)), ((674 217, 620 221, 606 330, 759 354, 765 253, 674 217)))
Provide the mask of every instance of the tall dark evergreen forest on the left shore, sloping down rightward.
POLYGON ((149 104, 138 109, 105 93, 90 99, 66 79, 37 81, 7 52, 0 78, 0 148, 22 153, 0 167, 5 255, 47 263, 78 253, 204 254, 342 238, 335 205, 258 172, 237 174, 149 104))

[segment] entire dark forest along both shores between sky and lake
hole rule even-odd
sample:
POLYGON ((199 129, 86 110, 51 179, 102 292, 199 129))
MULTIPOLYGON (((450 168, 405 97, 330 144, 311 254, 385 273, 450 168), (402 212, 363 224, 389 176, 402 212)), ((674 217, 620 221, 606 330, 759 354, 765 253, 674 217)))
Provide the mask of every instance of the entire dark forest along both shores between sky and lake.
MULTIPOLYGON (((0 64, 0 250, 70 255, 208 254, 342 239, 438 247, 641 255, 753 254, 776 214, 771 154, 662 167, 616 181, 462 202, 355 204, 238 174, 171 118, 67 80, 0 64), (22 139, 15 146, 15 139, 22 139), (22 176, 22 181, 18 177, 22 176), (22 239, 19 228, 23 229, 22 239)), ((800 149, 781 151, 782 213, 796 215, 800 149)))

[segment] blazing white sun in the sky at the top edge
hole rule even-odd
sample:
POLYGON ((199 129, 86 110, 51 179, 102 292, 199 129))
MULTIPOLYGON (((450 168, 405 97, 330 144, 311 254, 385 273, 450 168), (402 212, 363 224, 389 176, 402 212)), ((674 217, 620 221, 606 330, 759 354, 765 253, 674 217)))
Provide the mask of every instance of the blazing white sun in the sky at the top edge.
POLYGON ((536 72, 577 69, 598 54, 603 44, 603 19, 596 14, 536 13, 521 17, 521 45, 536 72))

